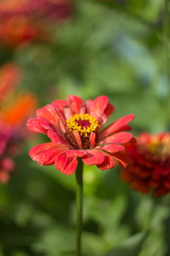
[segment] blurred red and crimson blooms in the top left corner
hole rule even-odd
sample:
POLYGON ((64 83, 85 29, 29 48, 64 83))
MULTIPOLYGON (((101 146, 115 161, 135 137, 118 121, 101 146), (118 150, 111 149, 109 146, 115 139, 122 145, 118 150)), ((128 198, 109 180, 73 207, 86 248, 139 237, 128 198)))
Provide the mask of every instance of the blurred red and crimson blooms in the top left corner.
POLYGON ((52 41, 46 21, 66 20, 72 14, 71 0, 3 0, 0 2, 0 43, 17 47, 34 41, 52 41))

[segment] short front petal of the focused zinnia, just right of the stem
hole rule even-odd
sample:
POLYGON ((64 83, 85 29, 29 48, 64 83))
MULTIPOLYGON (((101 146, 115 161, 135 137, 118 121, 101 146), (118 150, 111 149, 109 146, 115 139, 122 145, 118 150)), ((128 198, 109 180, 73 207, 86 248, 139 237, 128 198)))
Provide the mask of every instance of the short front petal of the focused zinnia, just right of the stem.
POLYGON ((89 150, 88 153, 82 157, 82 161, 88 166, 92 166, 94 164, 99 165, 103 163, 105 160, 104 154, 101 151, 89 150))

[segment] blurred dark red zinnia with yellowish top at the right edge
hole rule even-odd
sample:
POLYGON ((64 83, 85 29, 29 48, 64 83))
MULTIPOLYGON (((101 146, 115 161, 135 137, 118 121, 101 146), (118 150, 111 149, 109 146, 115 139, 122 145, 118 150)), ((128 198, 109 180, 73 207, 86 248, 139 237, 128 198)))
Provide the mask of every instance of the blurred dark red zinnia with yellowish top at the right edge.
POLYGON ((142 133, 136 144, 125 143, 132 164, 122 169, 122 180, 143 194, 159 197, 170 191, 170 133, 142 133))

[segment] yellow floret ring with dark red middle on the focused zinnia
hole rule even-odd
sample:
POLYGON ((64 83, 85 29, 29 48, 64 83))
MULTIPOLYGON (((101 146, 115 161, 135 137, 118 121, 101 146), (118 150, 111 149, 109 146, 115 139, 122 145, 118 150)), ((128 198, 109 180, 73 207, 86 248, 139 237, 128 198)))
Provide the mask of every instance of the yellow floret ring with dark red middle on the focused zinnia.
POLYGON ((66 124, 69 132, 76 131, 80 136, 88 137, 91 132, 95 132, 100 125, 93 116, 89 114, 75 114, 70 117, 70 120, 66 120, 66 124))

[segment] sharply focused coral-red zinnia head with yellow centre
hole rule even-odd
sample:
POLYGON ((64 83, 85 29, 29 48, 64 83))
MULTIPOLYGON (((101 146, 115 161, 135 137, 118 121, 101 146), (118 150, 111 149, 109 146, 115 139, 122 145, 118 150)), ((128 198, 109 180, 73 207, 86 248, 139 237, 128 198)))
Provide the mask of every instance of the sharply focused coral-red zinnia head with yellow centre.
POLYGON ((35 146, 29 152, 40 165, 52 165, 66 175, 76 171, 78 157, 88 166, 112 169, 114 159, 127 166, 127 158, 121 154, 125 142, 136 142, 127 122, 134 115, 124 116, 102 131, 114 107, 108 97, 99 96, 85 103, 77 96, 68 96, 67 101, 56 100, 36 111, 35 119, 28 119, 31 131, 47 134, 51 142, 35 146))

